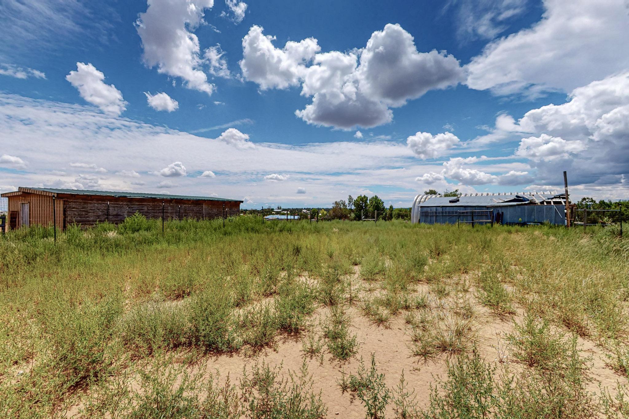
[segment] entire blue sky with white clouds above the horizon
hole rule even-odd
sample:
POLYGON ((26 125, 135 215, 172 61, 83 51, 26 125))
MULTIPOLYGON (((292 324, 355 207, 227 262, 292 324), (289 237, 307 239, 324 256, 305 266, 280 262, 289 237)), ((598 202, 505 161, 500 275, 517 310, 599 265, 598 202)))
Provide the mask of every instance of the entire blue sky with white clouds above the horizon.
POLYGON ((625 0, 6 0, 0 192, 629 196, 625 0))

